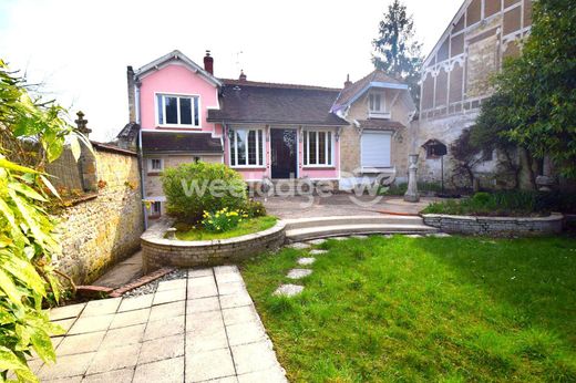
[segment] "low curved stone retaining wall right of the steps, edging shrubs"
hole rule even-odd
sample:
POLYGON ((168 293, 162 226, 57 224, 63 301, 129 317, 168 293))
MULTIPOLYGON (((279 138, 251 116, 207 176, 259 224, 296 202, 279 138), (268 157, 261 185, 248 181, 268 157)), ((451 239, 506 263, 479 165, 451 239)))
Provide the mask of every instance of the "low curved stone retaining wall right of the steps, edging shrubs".
POLYGON ((424 224, 445 232, 476 236, 544 236, 562 232, 564 216, 553 213, 548 217, 472 217, 424 214, 424 224))

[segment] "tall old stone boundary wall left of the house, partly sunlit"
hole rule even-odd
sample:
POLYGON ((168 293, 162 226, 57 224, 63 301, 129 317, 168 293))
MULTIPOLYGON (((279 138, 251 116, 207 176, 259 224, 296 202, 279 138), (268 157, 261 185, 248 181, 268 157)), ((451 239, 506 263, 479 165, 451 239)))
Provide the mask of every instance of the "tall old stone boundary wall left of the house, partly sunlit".
POLYGON ((144 230, 135 153, 94 144, 99 190, 60 215, 62 255, 56 267, 89 283, 140 248, 144 230))

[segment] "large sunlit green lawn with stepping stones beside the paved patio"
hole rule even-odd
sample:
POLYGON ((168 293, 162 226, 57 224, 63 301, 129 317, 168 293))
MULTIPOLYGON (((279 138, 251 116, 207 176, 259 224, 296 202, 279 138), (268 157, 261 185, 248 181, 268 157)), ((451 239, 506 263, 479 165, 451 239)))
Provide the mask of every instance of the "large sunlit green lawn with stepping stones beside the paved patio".
POLYGON ((576 240, 330 240, 296 298, 271 292, 305 250, 243 265, 294 382, 575 382, 576 240))

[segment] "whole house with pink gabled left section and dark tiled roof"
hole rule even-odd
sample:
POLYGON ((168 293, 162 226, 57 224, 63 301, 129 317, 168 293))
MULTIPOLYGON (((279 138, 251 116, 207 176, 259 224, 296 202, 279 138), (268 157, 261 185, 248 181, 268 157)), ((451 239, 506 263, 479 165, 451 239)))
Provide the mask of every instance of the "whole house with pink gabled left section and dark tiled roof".
POLYGON ((364 177, 405 180, 415 105, 408 86, 374 71, 342 89, 214 75, 173 51, 127 70, 130 123, 121 146, 140 146, 148 218, 165 211, 161 172, 218 162, 248 183, 305 178, 351 188, 364 177))

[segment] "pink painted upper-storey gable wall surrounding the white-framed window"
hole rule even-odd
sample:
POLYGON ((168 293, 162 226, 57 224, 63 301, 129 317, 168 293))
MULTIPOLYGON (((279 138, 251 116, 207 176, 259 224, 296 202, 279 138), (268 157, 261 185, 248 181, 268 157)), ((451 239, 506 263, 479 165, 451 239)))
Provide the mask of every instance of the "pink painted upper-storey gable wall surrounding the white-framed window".
MULTIPOLYGON (((183 131, 214 132, 222 135, 222 130, 208 123, 208 108, 218 108, 218 89, 188 68, 172 63, 162 66, 142 79, 140 89, 141 122, 143 130, 160 130, 156 125, 155 93, 182 93, 200 96, 200 127, 183 131)), ((177 130, 177 128, 169 128, 177 130)))

